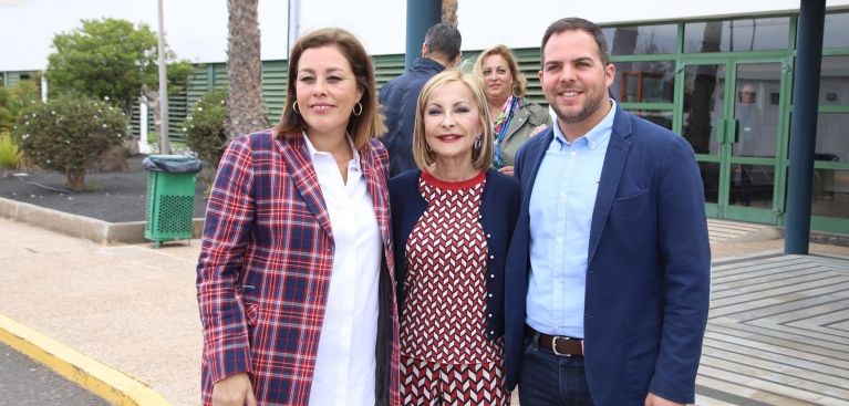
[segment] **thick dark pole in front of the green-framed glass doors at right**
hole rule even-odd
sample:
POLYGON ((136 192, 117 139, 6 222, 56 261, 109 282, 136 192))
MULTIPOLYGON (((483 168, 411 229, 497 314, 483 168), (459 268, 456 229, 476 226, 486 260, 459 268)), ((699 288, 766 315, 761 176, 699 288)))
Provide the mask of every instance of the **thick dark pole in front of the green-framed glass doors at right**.
POLYGON ((817 144, 819 74, 826 0, 801 0, 793 81, 790 166, 787 180, 785 253, 808 253, 814 152, 817 144))

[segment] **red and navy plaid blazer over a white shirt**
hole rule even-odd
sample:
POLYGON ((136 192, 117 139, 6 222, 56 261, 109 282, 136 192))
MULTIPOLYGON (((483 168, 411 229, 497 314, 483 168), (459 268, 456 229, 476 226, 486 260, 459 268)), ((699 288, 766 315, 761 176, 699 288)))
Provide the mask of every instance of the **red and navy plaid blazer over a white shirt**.
MULTIPOLYGON (((377 405, 400 405, 389 156, 372 140, 361 166, 383 238, 377 405)), ((263 131, 227 148, 209 196, 197 266, 203 400, 214 383, 251 376, 260 405, 307 405, 333 269, 333 230, 300 135, 263 131)))

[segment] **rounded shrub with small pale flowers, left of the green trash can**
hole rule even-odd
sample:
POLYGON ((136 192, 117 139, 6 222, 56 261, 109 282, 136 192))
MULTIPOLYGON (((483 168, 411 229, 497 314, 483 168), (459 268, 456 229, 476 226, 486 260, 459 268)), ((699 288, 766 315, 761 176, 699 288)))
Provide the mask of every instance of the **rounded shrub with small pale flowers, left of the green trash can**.
POLYGON ((85 188, 85 168, 101 154, 121 145, 127 119, 106 103, 65 95, 25 108, 18 118, 18 145, 37 165, 65 175, 69 189, 85 188))

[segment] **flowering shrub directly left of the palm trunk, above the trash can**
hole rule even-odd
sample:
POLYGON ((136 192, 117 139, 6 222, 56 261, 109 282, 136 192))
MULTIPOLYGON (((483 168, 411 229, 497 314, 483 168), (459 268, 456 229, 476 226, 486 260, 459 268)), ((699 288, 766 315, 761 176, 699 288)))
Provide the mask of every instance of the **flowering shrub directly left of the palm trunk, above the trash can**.
POLYGON ((227 91, 205 93, 191 106, 183 122, 186 145, 198 158, 207 163, 213 173, 218 168, 224 150, 229 144, 227 137, 227 91))

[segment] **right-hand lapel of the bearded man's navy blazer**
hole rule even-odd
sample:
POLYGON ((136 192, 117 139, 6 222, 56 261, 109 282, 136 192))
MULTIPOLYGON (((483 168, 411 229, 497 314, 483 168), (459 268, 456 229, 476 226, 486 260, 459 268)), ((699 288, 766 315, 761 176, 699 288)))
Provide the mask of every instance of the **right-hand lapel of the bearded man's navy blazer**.
POLYGON ((631 149, 631 121, 627 113, 617 106, 617 115, 613 118, 613 131, 610 134, 608 152, 604 155, 604 164, 601 167, 601 181, 596 195, 596 206, 592 209, 592 223, 590 226, 590 246, 587 263, 592 262, 596 249, 601 241, 601 233, 608 221, 608 215, 613 204, 613 198, 619 189, 619 180, 625 167, 628 152, 631 149))

